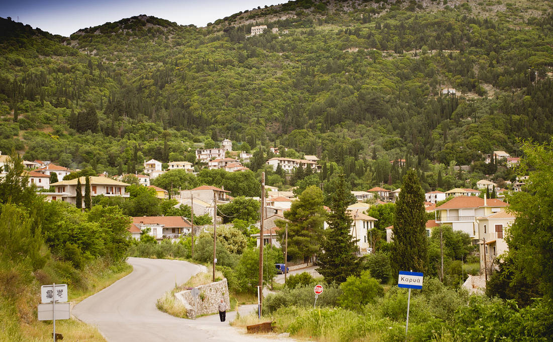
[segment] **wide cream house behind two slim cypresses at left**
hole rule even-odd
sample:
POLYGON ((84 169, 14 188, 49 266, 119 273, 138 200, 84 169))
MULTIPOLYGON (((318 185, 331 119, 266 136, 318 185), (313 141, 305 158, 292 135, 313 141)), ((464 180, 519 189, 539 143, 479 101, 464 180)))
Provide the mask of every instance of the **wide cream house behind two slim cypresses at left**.
MULTIPOLYGON (((129 197, 129 193, 125 192, 125 188, 129 186, 127 183, 119 182, 118 180, 107 177, 91 176, 89 178, 91 190, 90 194, 93 197, 98 195, 106 197, 129 197)), ((84 197, 86 177, 80 177, 78 179, 81 180, 81 193, 84 197)), ((76 204, 77 178, 71 180, 61 180, 60 182, 50 184, 50 186, 54 186, 55 193, 45 193, 48 200, 56 201, 61 199, 62 201, 76 204)))

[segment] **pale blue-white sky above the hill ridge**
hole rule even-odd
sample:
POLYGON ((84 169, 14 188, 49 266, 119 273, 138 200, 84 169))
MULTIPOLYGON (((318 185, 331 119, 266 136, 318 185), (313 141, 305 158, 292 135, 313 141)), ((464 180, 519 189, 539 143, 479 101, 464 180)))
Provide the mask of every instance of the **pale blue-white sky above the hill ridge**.
POLYGON ((181 25, 205 26, 228 15, 288 0, 0 0, 0 17, 69 37, 81 28, 147 14, 181 25))

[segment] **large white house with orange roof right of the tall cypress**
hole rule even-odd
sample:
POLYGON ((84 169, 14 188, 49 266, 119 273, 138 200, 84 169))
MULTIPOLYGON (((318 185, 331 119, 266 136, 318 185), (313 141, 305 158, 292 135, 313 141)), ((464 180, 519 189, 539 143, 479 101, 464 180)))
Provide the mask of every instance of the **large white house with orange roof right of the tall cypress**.
POLYGON ((499 213, 507 206, 507 203, 498 199, 487 199, 485 195, 483 199, 477 196, 457 196, 436 208, 436 223, 466 232, 473 241, 478 241, 480 237, 477 217, 499 213))

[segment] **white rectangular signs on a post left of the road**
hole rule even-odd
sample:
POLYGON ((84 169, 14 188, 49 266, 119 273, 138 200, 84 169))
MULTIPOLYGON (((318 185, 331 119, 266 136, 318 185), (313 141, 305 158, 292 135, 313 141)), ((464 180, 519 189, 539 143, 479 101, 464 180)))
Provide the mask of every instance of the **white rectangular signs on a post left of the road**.
POLYGON ((69 319, 70 317, 70 305, 67 303, 67 284, 56 285, 44 285, 40 287, 40 298, 43 304, 39 304, 38 307, 38 319, 39 320, 52 320, 54 325, 54 342, 56 342, 56 313, 58 313, 58 319, 69 319), (58 308, 56 309, 56 302, 58 302, 58 308), (52 310, 48 312, 45 306, 48 307, 52 303, 52 310), (51 315, 50 315, 51 313, 51 315))

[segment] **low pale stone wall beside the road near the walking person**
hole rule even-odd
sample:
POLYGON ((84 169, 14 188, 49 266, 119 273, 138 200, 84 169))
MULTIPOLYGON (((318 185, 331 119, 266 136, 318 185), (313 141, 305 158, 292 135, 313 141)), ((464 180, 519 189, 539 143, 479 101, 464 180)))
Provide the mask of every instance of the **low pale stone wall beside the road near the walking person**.
POLYGON ((198 286, 197 288, 200 290, 197 298, 192 297, 191 290, 175 293, 175 297, 186 307, 188 318, 196 319, 200 315, 218 313, 218 305, 221 303, 221 298, 225 300, 227 310, 230 308, 226 278, 219 282, 198 286))

